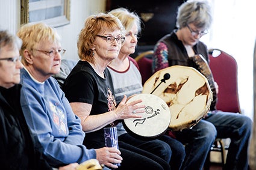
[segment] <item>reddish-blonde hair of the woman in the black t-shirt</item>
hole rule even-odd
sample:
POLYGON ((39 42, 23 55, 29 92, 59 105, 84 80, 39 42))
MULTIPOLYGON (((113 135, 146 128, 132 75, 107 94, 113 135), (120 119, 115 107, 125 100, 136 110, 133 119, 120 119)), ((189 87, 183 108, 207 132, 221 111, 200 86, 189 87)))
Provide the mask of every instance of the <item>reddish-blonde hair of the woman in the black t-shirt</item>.
POLYGON ((94 63, 92 47, 96 35, 101 31, 115 31, 116 29, 119 29, 121 34, 124 35, 125 29, 122 23, 112 14, 99 13, 89 16, 78 36, 77 48, 80 59, 94 63))

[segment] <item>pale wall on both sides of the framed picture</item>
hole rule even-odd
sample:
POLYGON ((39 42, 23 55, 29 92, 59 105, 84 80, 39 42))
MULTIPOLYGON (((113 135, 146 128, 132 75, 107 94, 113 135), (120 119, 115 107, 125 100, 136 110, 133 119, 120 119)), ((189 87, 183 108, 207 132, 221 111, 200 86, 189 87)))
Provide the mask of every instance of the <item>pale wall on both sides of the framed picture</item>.
MULTIPOLYGON (((20 26, 20 0, 0 0, 0 4, 0 28, 15 34, 20 26)), ((91 14, 105 11, 105 4, 105 0, 70 0, 70 24, 56 28, 66 49, 63 58, 78 59, 76 40, 84 21, 91 14)))

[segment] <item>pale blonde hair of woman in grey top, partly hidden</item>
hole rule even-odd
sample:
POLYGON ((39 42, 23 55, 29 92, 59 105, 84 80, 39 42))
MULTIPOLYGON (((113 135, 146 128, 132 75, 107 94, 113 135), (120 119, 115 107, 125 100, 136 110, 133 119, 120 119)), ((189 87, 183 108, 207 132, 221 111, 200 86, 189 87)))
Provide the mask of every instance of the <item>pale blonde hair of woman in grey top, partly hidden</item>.
POLYGON ((133 27, 134 24, 137 25, 138 32, 141 31, 141 20, 136 13, 131 12, 126 8, 116 8, 114 10, 111 10, 109 13, 118 17, 118 19, 122 22, 123 26, 125 27, 126 32, 128 32, 133 27))

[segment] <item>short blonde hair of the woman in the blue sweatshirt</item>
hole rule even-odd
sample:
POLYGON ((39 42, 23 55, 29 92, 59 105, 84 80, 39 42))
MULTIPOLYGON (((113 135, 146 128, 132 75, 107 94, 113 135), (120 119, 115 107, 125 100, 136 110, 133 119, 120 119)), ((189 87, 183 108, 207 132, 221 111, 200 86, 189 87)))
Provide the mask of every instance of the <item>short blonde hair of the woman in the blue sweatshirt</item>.
POLYGON ((60 36, 57 31, 45 23, 27 23, 19 29, 17 36, 23 41, 20 54, 22 55, 22 62, 25 62, 25 64, 27 64, 27 61, 23 59, 25 49, 31 51, 35 44, 42 41, 49 41, 50 43, 60 42, 60 36))

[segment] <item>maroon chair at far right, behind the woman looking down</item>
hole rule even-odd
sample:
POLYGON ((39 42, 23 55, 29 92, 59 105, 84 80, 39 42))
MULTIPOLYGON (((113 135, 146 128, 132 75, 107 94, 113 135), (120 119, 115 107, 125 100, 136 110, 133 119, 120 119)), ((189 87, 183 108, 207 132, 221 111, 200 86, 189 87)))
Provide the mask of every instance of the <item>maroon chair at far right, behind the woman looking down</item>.
MULTIPOLYGON (((210 49, 208 54, 211 72, 213 73, 214 80, 219 85, 216 109, 225 112, 241 113, 237 87, 236 59, 219 49, 210 49)), ((222 167, 225 165, 225 150, 228 150, 228 146, 225 146, 222 139, 216 139, 211 147, 211 151, 221 153, 222 167)), ((205 162, 205 170, 210 167, 210 152, 205 162)))

